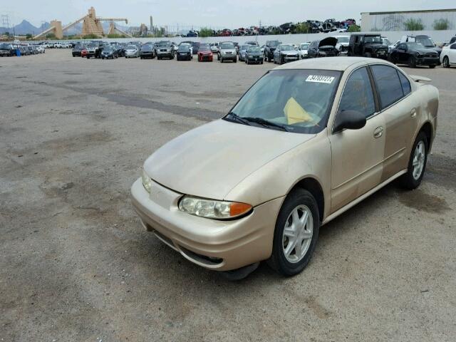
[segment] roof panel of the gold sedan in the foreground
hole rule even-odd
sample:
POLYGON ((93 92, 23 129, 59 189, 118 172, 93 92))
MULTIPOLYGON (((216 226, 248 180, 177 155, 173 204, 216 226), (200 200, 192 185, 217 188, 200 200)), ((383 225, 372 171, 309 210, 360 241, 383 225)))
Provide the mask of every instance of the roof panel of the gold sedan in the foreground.
POLYGON ((346 71, 346 69, 356 66, 356 64, 390 64, 379 58, 366 58, 366 57, 328 57, 328 58, 310 58, 296 61, 293 63, 286 63, 282 66, 274 68, 274 70, 286 69, 320 69, 320 70, 336 70, 346 71))

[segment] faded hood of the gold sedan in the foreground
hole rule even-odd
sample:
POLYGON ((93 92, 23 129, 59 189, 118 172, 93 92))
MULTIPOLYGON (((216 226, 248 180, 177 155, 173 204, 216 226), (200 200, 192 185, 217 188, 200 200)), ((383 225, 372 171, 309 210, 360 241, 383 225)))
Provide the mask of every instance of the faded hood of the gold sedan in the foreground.
POLYGON ((177 192, 225 199, 252 172, 314 136, 215 120, 167 142, 144 167, 177 192))

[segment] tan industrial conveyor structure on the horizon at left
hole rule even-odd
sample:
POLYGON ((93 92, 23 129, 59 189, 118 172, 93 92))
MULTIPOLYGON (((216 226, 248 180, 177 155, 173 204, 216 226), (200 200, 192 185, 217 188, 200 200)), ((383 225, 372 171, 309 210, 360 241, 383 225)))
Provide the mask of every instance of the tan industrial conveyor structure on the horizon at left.
POLYGON ((125 21, 125 24, 128 24, 128 19, 125 18, 100 18, 95 16, 95 9, 93 7, 90 7, 88 10, 88 14, 86 16, 83 16, 82 18, 74 21, 71 24, 68 24, 64 27, 62 27, 62 22, 57 21, 57 20, 52 20, 51 21, 51 26, 46 30, 41 32, 40 34, 34 36, 33 38, 42 38, 46 36, 48 33, 53 33, 54 36, 56 36, 57 39, 62 39, 63 38, 63 32, 68 30, 69 28, 72 28, 73 26, 76 26, 76 24, 83 23, 82 27, 82 36, 86 35, 94 35, 102 38, 105 36, 105 33, 103 31, 103 21, 109 21, 109 31, 108 34, 113 34, 113 33, 120 33, 123 34, 124 36, 131 37, 130 34, 126 33, 125 31, 120 30, 120 28, 115 26, 116 21, 125 21))

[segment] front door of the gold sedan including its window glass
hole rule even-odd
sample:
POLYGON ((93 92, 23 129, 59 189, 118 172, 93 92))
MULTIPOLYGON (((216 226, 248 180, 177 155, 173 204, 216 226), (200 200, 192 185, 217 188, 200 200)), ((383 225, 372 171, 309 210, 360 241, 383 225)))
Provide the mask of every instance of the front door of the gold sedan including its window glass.
POLYGON ((383 170, 385 119, 378 113, 373 83, 367 67, 348 77, 338 105, 338 115, 357 110, 366 115, 366 126, 342 130, 331 142, 331 212, 335 212, 378 185, 383 170))

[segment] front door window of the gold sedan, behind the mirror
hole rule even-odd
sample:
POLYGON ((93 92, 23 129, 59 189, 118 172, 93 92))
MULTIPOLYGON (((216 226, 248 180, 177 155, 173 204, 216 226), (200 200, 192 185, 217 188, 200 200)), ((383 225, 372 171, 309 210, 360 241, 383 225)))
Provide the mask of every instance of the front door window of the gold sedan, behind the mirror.
POLYGON ((371 80, 366 68, 353 71, 343 88, 338 115, 343 115, 344 110, 356 110, 369 118, 375 113, 375 100, 371 80))

